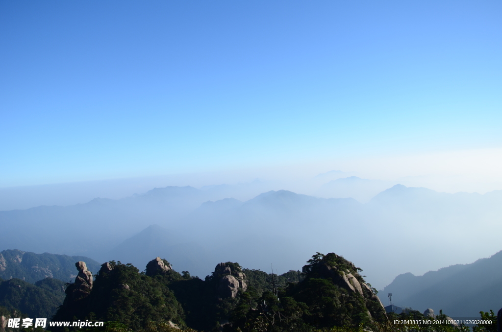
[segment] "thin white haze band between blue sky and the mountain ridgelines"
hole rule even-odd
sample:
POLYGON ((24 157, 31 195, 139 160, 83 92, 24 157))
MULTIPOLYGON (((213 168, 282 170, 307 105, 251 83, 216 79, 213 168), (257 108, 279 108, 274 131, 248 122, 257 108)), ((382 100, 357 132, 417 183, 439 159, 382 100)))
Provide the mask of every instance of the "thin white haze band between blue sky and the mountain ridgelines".
POLYGON ((502 189, 501 170, 502 148, 345 156, 304 163, 263 165, 254 169, 4 187, 0 188, 0 211, 41 205, 73 205, 97 197, 120 199, 167 186, 203 188, 221 184, 240 185, 240 189, 233 194, 239 200, 251 199, 268 190, 284 189, 317 197, 352 197, 367 202, 380 191, 398 183, 438 192, 484 194, 502 189), (366 181, 352 185, 348 185, 347 181, 344 184, 329 184, 330 181, 354 176, 366 181), (263 184, 254 186, 254 190, 245 185, 257 179, 263 184))

